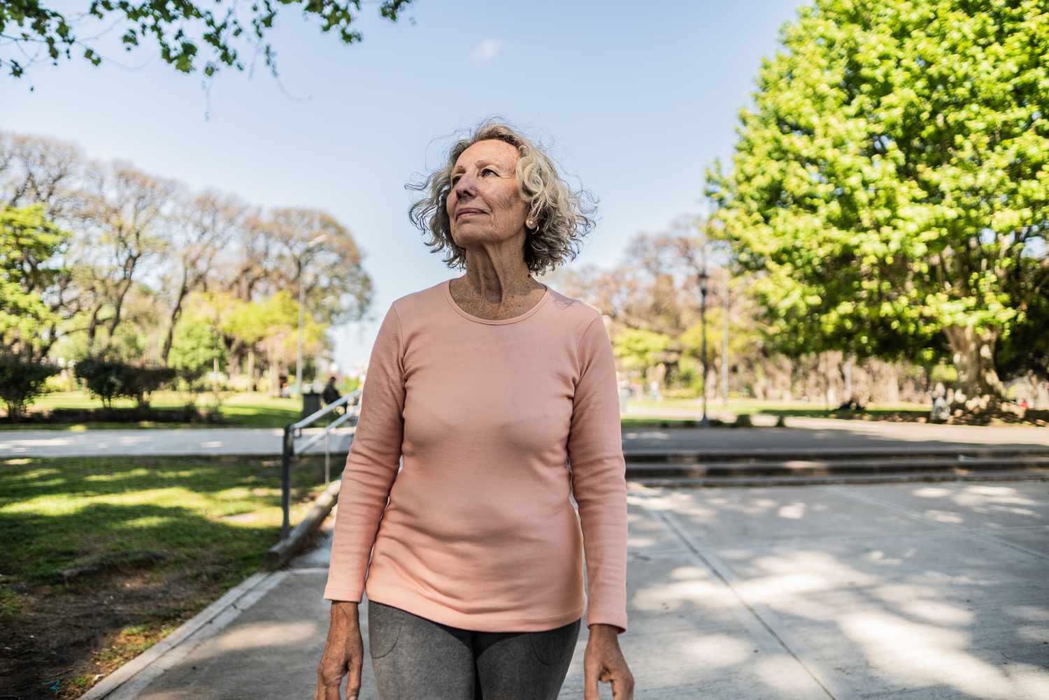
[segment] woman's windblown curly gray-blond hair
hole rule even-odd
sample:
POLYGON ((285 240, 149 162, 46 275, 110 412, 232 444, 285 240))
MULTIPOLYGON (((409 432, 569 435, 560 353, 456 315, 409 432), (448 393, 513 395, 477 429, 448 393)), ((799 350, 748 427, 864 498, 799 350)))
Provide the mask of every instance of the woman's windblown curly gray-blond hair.
POLYGON ((477 141, 494 138, 517 149, 517 181, 521 197, 531 204, 529 217, 536 228, 528 232, 524 243, 524 262, 533 272, 572 260, 578 255, 579 240, 588 234, 596 221, 594 196, 586 190, 573 191, 557 172, 553 160, 532 140, 521 135, 502 121, 485 119, 473 132, 459 139, 448 152, 445 165, 419 182, 405 188, 426 192, 426 196, 411 205, 408 218, 424 234, 432 238, 424 241, 433 247, 431 253, 447 250, 444 262, 449 267, 466 267, 466 248, 452 239, 447 200, 451 192, 451 173, 463 151, 477 141), (590 200, 587 204, 585 200, 590 200))

